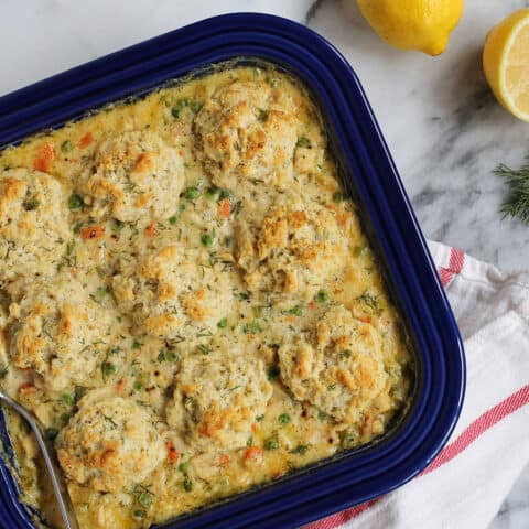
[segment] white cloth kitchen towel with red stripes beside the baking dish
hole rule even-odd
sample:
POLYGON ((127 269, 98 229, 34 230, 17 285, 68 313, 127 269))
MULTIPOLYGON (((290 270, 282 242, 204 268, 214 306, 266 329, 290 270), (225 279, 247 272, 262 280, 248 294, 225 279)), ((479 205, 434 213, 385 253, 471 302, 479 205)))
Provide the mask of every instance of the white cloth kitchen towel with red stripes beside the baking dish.
POLYGON ((305 529, 485 529, 529 462, 529 274, 430 250, 465 343, 461 419, 413 481, 305 529))

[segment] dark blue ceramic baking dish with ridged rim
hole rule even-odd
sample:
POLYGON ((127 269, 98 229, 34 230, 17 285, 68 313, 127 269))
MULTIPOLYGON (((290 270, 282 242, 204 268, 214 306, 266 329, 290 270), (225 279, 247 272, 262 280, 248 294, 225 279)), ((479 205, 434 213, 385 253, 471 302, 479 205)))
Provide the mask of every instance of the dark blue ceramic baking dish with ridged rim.
MULTIPOLYGON (((417 384, 406 417, 378 442, 182 516, 162 526, 168 529, 299 527, 386 494, 443 447, 465 389, 457 326, 373 110, 346 60, 313 31, 278 17, 238 13, 112 53, 0 98, 0 148, 234 60, 272 63, 299 78, 319 105, 344 183, 407 322, 417 384)), ((3 419, 0 427, 9 460, 3 419)), ((0 462, 1 526, 32 528, 8 466, 0 462)))

